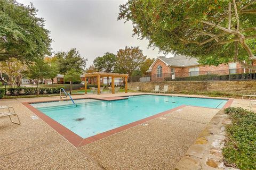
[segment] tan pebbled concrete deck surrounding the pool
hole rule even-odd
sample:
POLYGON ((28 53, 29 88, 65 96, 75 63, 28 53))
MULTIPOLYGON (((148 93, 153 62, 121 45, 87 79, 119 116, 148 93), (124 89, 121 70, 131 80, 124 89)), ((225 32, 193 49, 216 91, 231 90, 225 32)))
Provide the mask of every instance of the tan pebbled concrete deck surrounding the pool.
MULTIPOLYGON (((73 98, 107 98, 146 93, 76 95, 73 98)), ((178 95, 189 97, 204 97, 178 95)), ((0 119, 0 169, 173 169, 198 134, 220 109, 185 106, 110 137, 82 147, 69 141, 35 116, 22 103, 58 100, 59 97, 3 99, 14 107, 21 125, 0 119)), ((244 107, 249 100, 234 99, 244 107)), ((247 107, 248 108, 248 107, 247 107)))

